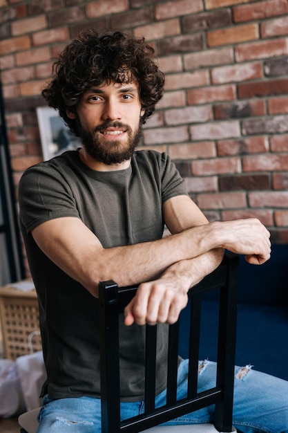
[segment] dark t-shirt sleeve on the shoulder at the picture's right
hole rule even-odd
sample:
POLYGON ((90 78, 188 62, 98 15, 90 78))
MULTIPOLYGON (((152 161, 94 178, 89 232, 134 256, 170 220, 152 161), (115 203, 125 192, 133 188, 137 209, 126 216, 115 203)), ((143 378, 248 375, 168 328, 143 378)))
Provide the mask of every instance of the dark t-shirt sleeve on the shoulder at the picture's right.
POLYGON ((168 154, 161 154, 162 203, 175 196, 188 195, 184 179, 168 154))

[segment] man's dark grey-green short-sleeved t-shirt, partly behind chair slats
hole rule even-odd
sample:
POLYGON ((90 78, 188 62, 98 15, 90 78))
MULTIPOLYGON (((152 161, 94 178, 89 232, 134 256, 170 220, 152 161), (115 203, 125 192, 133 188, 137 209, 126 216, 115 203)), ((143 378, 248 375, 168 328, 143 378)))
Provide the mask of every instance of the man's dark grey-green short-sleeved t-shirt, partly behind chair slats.
MULTIPOLYGON (((95 233, 104 248, 160 239, 163 203, 186 194, 169 156, 136 151, 131 166, 96 172, 68 151, 30 167, 19 183, 20 224, 39 299, 44 360, 50 398, 99 396, 98 300, 68 277, 38 248, 30 232, 45 221, 74 216, 95 233)), ((97 266, 97 257, 95 257, 97 266)), ((125 267, 125 263, 123 263, 125 267)), ((166 325, 158 325, 157 392, 166 387, 166 325)), ((121 394, 144 395, 144 326, 120 318, 121 394)))

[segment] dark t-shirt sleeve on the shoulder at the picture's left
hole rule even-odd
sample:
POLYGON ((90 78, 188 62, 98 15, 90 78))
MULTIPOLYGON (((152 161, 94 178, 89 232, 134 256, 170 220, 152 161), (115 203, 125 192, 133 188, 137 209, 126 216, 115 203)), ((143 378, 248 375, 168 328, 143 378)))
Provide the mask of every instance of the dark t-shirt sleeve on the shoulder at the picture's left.
POLYGON ((79 218, 70 186, 61 173, 45 165, 30 167, 19 182, 19 217, 30 233, 37 225, 64 216, 79 218))

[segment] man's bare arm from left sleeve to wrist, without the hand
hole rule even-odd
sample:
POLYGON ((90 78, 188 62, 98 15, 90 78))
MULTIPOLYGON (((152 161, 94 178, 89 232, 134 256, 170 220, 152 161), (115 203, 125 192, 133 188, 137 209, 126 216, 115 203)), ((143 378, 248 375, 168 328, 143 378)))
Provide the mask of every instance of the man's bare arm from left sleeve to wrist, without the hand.
POLYGON ((99 281, 114 279, 119 286, 150 281, 178 261, 208 252, 211 230, 204 224, 157 241, 103 248, 80 220, 66 218, 47 221, 32 235, 59 268, 97 296, 99 281))

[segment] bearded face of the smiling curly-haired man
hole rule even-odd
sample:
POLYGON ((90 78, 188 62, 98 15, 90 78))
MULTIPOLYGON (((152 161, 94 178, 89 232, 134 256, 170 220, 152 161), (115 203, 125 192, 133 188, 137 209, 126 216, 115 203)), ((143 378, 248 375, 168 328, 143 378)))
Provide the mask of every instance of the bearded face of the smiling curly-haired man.
POLYGON ((68 116, 79 123, 86 152, 99 163, 113 165, 131 159, 141 137, 143 114, 138 86, 132 82, 90 89, 82 95, 77 114, 68 116))

